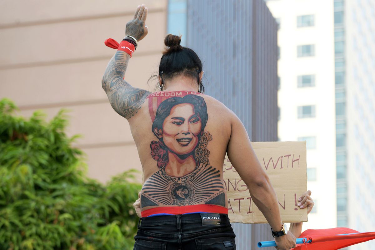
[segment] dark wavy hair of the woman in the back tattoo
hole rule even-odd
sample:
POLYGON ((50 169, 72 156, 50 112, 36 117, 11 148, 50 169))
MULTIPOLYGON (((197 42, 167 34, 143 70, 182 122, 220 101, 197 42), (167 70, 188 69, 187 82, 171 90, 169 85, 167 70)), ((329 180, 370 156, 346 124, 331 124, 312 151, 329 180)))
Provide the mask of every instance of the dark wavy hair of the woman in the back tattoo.
MULTIPOLYGON (((204 131, 204 128, 207 123, 208 114, 207 114, 207 106, 204 101, 204 99, 201 96, 197 95, 186 95, 184 97, 171 97, 166 100, 164 100, 162 103, 160 103, 159 107, 157 108, 155 120, 152 123, 152 132, 156 137, 157 134, 155 133, 155 129, 163 130, 163 123, 165 118, 171 113, 171 109, 182 103, 190 103, 194 107, 194 113, 200 118, 201 120, 201 131, 204 131)), ((198 135, 198 138, 200 138, 200 134, 198 135)), ((162 141, 162 138, 159 138, 160 141, 162 141)))

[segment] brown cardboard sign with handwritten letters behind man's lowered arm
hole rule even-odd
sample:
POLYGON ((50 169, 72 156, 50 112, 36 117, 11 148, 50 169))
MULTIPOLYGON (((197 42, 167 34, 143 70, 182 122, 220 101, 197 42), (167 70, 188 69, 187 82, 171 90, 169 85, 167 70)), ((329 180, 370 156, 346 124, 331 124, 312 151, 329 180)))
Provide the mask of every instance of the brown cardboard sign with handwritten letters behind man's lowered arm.
MULTIPOLYGON (((306 222, 307 209, 300 209, 298 198, 307 190, 306 142, 252 142, 258 160, 269 176, 279 200, 283 222, 306 222)), ((228 195, 230 222, 267 223, 252 201, 248 187, 234 166, 224 161, 224 183, 228 195)))

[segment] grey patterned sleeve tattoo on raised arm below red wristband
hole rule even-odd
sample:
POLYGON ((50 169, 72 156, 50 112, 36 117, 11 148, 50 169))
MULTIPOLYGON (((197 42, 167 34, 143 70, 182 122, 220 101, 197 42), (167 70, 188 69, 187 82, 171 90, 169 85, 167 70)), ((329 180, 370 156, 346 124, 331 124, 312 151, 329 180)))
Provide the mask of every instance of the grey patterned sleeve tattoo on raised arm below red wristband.
POLYGON ((107 93, 112 108, 126 119, 131 118, 141 108, 149 91, 132 87, 123 77, 130 55, 117 51, 105 70, 102 87, 107 93))

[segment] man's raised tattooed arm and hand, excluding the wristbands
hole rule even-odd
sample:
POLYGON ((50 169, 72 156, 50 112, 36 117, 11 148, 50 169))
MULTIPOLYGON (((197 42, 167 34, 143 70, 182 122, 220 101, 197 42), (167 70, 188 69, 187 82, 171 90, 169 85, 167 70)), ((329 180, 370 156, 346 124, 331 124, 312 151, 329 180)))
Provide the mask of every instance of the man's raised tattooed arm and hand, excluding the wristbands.
MULTIPOLYGON (((126 36, 132 36, 139 41, 147 35, 148 30, 145 25, 147 11, 143 4, 137 7, 133 20, 126 24, 126 36)), ((129 54, 124 51, 117 51, 108 63, 102 78, 102 87, 107 93, 111 106, 126 119, 138 112, 145 98, 150 93, 146 90, 132 87, 123 79, 129 59, 129 54)))

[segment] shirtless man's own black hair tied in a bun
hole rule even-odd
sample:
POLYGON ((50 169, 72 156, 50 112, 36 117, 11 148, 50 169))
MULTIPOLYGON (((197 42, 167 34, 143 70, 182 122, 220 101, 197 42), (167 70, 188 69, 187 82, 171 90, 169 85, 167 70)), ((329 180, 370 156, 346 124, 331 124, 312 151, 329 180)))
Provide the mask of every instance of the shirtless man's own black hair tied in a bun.
MULTIPOLYGON (((180 45, 181 36, 168 34, 164 39, 165 46, 169 47, 163 51, 160 59, 159 75, 163 81, 171 79, 176 75, 183 74, 197 79, 199 84, 199 73, 202 71, 202 62, 198 55, 190 48, 180 45)), ((204 91, 201 85, 201 93, 204 91)))

